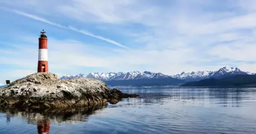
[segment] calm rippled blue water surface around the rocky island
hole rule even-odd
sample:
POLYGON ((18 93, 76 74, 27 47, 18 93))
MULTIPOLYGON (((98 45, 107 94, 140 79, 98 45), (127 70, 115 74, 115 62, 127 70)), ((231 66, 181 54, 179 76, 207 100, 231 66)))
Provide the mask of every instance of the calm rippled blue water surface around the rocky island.
POLYGON ((0 133, 256 133, 256 88, 120 88, 117 105, 1 110, 0 133))

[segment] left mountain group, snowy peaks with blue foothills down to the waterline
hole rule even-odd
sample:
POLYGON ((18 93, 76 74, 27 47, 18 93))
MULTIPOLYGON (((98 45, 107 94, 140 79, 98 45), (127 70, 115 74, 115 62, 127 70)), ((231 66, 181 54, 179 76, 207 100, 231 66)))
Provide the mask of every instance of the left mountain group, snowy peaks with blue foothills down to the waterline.
POLYGON ((130 71, 127 73, 89 73, 88 75, 66 75, 60 79, 73 78, 95 78, 104 81, 110 86, 165 86, 165 85, 181 85, 185 81, 172 78, 163 73, 152 73, 150 71, 130 71))

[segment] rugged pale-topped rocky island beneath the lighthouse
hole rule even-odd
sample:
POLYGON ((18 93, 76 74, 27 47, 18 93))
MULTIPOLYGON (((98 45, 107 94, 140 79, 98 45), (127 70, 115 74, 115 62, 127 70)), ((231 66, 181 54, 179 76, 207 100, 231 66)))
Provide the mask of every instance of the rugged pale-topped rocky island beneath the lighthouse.
POLYGON ((53 73, 34 73, 0 88, 0 106, 17 108, 67 108, 118 103, 122 98, 137 97, 110 90, 100 80, 75 78, 60 80, 53 73))

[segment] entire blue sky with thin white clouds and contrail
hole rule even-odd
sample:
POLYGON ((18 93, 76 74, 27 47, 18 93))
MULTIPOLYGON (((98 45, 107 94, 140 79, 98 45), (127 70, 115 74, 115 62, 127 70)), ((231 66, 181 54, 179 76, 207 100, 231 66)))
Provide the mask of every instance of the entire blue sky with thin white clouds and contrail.
POLYGON ((256 73, 253 0, 1 0, 0 83, 36 73, 48 36, 50 73, 256 73))

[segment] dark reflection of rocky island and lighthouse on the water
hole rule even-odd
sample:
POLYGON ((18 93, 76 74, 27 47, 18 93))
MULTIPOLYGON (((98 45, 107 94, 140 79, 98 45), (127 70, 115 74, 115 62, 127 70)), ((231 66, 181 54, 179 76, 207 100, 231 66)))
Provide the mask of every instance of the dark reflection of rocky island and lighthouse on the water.
POLYGON ((63 108, 45 111, 35 111, 18 108, 0 108, 6 114, 6 122, 11 123, 11 117, 24 118, 28 124, 37 126, 38 134, 49 134, 51 123, 76 123, 86 121, 95 110, 106 108, 106 105, 92 105, 82 108, 63 108))

